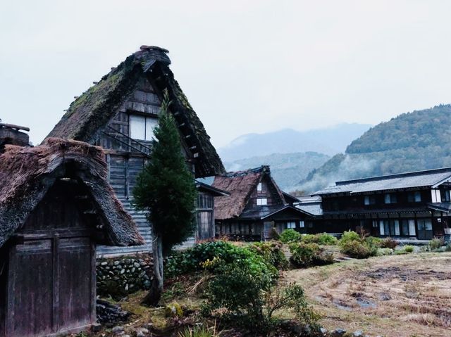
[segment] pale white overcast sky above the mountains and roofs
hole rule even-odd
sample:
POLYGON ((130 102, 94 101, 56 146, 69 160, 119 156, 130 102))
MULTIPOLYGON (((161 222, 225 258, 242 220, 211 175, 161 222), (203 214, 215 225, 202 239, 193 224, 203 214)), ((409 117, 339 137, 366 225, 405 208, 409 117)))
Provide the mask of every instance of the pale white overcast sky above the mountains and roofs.
POLYGON ((451 1, 0 0, 0 118, 37 144, 142 44, 215 146, 451 103, 451 1))

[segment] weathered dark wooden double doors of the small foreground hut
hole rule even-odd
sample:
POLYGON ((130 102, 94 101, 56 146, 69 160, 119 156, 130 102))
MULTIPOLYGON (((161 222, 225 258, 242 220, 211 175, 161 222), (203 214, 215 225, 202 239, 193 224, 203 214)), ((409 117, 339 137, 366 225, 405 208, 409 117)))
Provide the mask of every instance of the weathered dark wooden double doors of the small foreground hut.
POLYGON ((6 336, 46 336, 94 323, 93 252, 89 238, 13 246, 6 336))

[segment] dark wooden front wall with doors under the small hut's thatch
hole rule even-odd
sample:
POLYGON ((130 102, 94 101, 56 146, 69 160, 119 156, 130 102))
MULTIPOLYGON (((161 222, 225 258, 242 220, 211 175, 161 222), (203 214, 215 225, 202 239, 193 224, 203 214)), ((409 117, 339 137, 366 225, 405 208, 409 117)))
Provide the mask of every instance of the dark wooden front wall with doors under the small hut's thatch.
POLYGON ((47 336, 95 324, 92 233, 73 189, 54 185, 16 234, 17 242, 12 239, 6 246, 8 281, 1 283, 7 288, 0 296, 0 305, 6 305, 6 314, 0 314, 5 329, 0 336, 47 336))

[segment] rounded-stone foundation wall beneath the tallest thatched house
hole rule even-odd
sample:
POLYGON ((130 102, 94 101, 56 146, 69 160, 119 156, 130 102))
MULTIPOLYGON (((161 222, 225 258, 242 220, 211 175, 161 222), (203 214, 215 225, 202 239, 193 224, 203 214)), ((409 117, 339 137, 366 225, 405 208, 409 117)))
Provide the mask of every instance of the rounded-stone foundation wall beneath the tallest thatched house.
POLYGON ((96 269, 97 295, 120 299, 150 288, 153 262, 147 254, 101 258, 96 269))

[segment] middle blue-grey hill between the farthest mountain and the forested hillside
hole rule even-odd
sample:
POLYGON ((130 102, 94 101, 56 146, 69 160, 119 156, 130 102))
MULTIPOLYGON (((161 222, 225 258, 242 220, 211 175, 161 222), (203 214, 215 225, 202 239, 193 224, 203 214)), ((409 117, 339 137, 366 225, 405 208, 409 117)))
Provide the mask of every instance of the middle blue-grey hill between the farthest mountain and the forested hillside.
MULTIPOLYGON (((326 163, 330 157, 323 153, 273 153, 259 157, 225 162, 226 170, 240 171, 261 165, 271 166, 271 176, 284 191, 295 185, 299 180, 307 177, 307 174, 326 163)), ((288 191, 288 190, 287 190, 288 191)))

